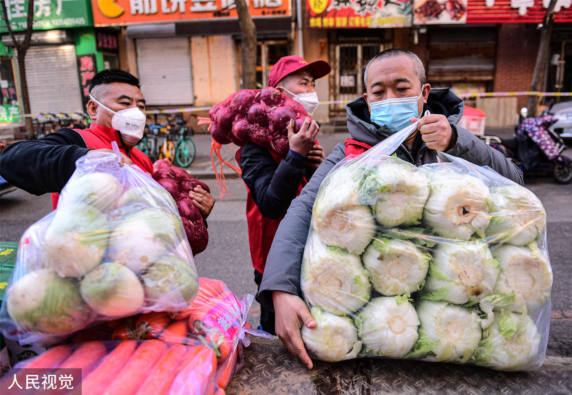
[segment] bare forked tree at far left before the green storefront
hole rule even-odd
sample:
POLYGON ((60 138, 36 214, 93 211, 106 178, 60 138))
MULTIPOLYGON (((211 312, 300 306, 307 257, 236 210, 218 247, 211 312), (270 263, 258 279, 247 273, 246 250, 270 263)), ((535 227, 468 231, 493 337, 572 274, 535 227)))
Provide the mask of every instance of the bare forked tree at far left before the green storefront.
MULTIPOLYGON (((21 41, 16 39, 14 32, 12 31, 12 27, 10 26, 10 21, 8 20, 8 10, 6 9, 6 2, 0 1, 0 3, 2 3, 2 18, 6 23, 6 29, 8 29, 10 38, 14 43, 14 50, 16 51, 18 58, 18 82, 20 84, 20 93, 22 95, 22 107, 24 114, 30 114, 30 97, 28 96, 28 84, 26 82, 26 65, 24 63, 24 58, 26 57, 26 51, 30 46, 30 38, 32 37, 32 27, 34 22, 34 0, 28 0, 26 31, 21 41)), ((32 118, 26 117, 25 122, 29 138, 35 138, 32 118)))

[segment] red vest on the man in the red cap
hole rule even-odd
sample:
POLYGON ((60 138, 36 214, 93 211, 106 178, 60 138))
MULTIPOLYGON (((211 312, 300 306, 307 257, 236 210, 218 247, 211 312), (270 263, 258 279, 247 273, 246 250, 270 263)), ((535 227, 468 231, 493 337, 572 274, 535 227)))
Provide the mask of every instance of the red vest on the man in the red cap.
MULTIPOLYGON (((240 153, 242 150, 243 149, 241 148, 236 153, 236 161, 239 165, 240 153)), ((272 154, 276 163, 280 163, 282 161, 282 157, 279 154, 270 150, 269 153, 272 154)), ((306 183, 307 181, 304 177, 302 182, 300 182, 296 196, 300 194, 306 183)), ((253 200, 248 186, 247 191, 248 243, 251 250, 252 266, 260 273, 264 273, 264 266, 266 266, 266 258, 268 258, 272 241, 274 240, 274 236, 276 236, 278 225, 280 225, 280 221, 283 220, 285 214, 277 220, 272 220, 271 218, 263 216, 262 213, 260 213, 256 202, 253 200)))

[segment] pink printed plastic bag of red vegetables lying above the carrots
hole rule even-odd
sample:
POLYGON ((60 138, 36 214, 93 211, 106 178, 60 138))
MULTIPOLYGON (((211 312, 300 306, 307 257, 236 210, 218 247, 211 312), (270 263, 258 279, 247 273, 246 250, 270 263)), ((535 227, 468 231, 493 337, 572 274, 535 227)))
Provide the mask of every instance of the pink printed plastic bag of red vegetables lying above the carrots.
POLYGON ((217 381, 225 388, 240 369, 242 348, 249 345, 245 335, 273 337, 248 324, 252 295, 246 294, 240 301, 223 281, 199 277, 198 282, 197 296, 180 312, 151 312, 110 321, 77 333, 74 342, 155 338, 187 346, 206 346, 215 353, 219 366, 217 381))

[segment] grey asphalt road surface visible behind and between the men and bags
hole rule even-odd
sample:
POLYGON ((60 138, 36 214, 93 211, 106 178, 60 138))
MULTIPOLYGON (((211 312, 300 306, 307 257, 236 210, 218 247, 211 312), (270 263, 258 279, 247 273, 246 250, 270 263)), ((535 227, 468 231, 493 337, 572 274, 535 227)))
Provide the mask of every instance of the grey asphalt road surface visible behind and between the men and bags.
MULTIPOLYGON (((324 139, 326 151, 333 148, 324 139)), ((339 140, 338 140, 339 141, 339 140)), ((218 197, 214 179, 205 179, 218 197)), ((570 185, 550 178, 527 178, 526 186, 542 200, 547 212, 550 261, 554 272, 552 320, 548 354, 572 356, 572 205, 570 185)), ((228 179, 229 194, 217 200, 208 219, 209 246, 196 256, 200 276, 219 278, 242 297, 256 293, 249 256, 245 216, 246 189, 240 179, 228 179)), ((49 195, 40 197, 17 190, 0 197, 0 240, 17 241, 28 226, 51 212, 49 195)), ((258 325, 260 307, 255 302, 249 319, 258 325)))

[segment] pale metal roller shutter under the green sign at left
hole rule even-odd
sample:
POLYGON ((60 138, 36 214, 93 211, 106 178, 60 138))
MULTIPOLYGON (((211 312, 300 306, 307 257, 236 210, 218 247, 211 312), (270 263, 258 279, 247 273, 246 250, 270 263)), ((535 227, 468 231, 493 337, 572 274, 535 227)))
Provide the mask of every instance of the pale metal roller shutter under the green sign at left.
POLYGON ((32 114, 84 112, 73 44, 30 46, 26 82, 32 114))

